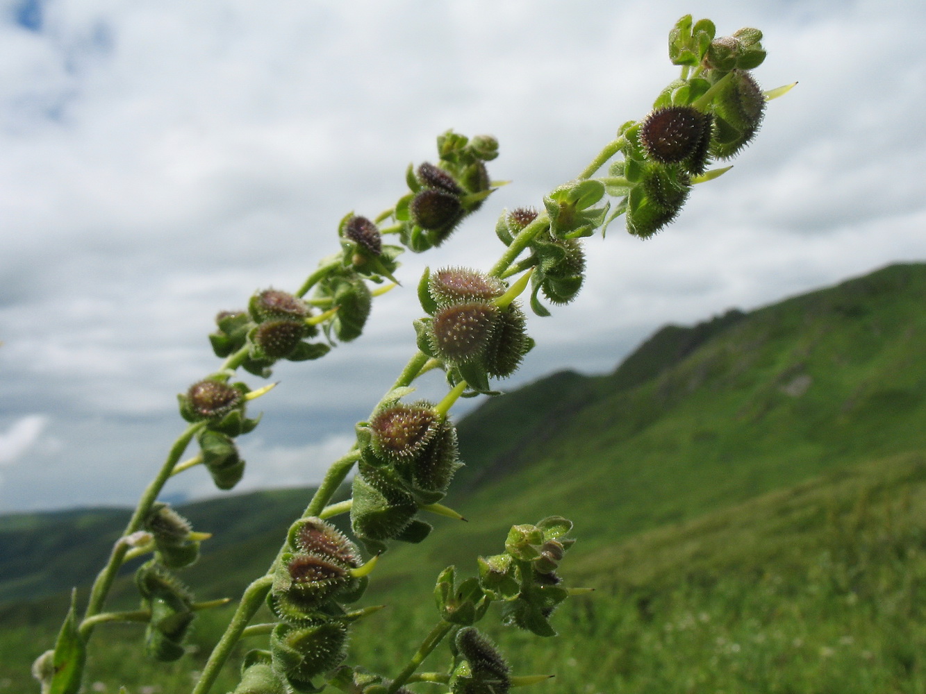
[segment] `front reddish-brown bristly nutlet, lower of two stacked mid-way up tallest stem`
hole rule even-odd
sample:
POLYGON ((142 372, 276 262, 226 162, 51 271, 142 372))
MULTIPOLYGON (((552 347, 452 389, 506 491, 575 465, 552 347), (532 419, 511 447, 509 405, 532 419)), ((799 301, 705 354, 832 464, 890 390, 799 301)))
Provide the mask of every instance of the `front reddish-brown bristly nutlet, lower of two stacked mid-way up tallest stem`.
POLYGON ((451 364, 480 359, 499 311, 494 304, 480 301, 445 306, 432 321, 434 353, 451 364))

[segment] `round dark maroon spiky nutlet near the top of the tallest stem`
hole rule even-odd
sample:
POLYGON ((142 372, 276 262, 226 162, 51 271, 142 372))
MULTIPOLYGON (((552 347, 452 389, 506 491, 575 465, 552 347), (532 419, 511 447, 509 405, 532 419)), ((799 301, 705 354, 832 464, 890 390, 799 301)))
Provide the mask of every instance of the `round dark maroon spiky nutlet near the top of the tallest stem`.
POLYGON ((680 164, 704 148, 710 135, 710 119, 694 106, 666 106, 644 118, 640 144, 646 154, 662 164, 680 164))

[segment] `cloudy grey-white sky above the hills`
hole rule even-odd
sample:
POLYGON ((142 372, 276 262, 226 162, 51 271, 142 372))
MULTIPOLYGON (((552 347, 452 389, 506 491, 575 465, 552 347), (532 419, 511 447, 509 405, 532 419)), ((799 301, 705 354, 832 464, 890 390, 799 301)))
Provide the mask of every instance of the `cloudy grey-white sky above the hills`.
MULTIPOLYGON (((503 390, 605 373, 669 322, 926 260, 926 6, 2 0, 0 514, 133 505, 183 428, 176 394, 219 365, 217 311, 298 287, 439 133, 494 134, 490 173, 512 182, 402 257, 360 339, 280 365, 252 403, 238 489, 319 481, 413 353, 423 268, 492 266, 501 210, 541 204, 677 77, 666 37, 687 13, 762 30, 757 80, 799 84, 668 229, 588 240, 582 294, 532 317, 503 390)), ((216 493, 196 468, 166 490, 216 493)))

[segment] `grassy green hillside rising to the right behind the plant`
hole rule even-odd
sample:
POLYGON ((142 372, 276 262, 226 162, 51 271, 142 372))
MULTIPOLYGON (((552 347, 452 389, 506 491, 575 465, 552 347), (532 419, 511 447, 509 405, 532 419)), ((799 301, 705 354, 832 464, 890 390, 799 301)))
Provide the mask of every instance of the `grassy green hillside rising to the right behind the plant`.
MULTIPOLYGON (((469 523, 435 519, 424 544, 391 549, 369 600, 423 590, 432 621, 427 591, 446 564, 472 569, 511 524, 565 514, 580 542, 564 574, 600 594, 557 615, 581 639, 574 654, 499 632, 522 672, 554 667, 557 688, 576 692, 926 689, 924 298, 926 265, 889 266, 663 328, 610 375, 564 372, 484 403, 459 422, 468 466, 449 500, 469 523)), ((286 494, 290 505, 268 493, 183 509, 218 532, 187 572, 208 586, 197 594, 233 594, 263 570, 307 498, 286 494)), ((86 517, 89 535, 116 523, 86 517)), ((29 538, 59 541, 46 521, 0 518, 7 600, 52 580, 25 569, 40 564, 29 538)), ((30 639, 50 605, 10 604, 0 620, 30 639)), ((409 619, 384 618, 364 662, 413 650, 409 619)))

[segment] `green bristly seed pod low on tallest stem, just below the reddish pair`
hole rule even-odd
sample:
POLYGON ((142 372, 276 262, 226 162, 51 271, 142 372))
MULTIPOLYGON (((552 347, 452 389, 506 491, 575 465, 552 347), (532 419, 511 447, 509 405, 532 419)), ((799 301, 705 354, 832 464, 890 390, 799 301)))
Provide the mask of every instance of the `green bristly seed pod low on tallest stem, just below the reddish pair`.
POLYGON ((270 636, 270 652, 279 673, 295 688, 333 670, 346 657, 347 627, 341 622, 317 626, 277 625, 270 636))

